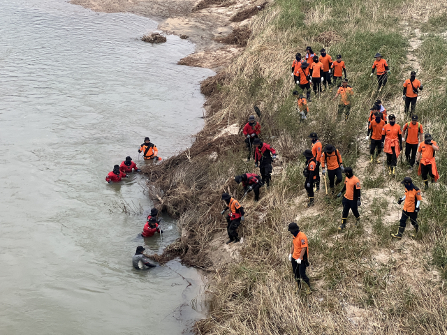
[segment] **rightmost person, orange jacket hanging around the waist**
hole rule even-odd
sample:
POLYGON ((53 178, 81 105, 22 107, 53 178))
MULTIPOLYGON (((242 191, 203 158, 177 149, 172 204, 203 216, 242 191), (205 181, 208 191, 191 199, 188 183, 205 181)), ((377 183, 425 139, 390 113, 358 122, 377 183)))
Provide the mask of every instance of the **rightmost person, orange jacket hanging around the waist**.
POLYGON ((420 143, 418 154, 416 155, 416 164, 419 165, 418 175, 422 174, 425 189, 428 188, 428 175, 432 177, 432 183, 436 183, 439 179, 434 153, 439 151, 437 142, 432 140, 432 135, 425 134, 424 142, 420 143), (422 157, 421 157, 422 156, 422 157))

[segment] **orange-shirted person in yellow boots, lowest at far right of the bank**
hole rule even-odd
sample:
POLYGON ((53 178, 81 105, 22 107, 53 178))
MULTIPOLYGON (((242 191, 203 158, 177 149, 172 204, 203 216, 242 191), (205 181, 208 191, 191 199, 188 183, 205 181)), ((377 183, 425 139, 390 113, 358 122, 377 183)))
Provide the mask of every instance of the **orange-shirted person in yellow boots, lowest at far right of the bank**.
POLYGON ((391 234, 391 236, 395 239, 402 239, 402 234, 404 234, 406 227, 406 220, 410 218, 410 222, 414 227, 414 232, 411 236, 416 237, 419 230, 418 212, 422 195, 420 194, 420 189, 413 185, 410 177, 405 177, 400 184, 404 184, 405 186, 405 195, 404 198, 399 198, 397 203, 402 204, 404 201, 404 209, 402 209, 399 230, 397 230, 396 234, 391 234))

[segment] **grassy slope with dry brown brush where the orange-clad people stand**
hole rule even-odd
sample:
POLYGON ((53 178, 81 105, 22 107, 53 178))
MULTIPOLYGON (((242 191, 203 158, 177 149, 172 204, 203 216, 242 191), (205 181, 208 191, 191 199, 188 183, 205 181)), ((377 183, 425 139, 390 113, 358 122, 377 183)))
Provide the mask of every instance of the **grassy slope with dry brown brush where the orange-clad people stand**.
MULTIPOLYGON (((367 163, 365 143, 358 140, 365 136, 369 107, 377 98, 369 78, 376 52, 385 55, 393 71, 380 98, 391 107, 388 114, 397 114, 397 123, 406 121, 399 97, 410 70, 407 52, 413 33, 404 31, 420 27, 422 44, 410 56, 420 64, 419 77, 425 83, 418 114, 443 150, 447 45, 438 21, 445 12, 434 2, 278 0, 256 17, 246 50, 217 80, 205 130, 190 151, 151 172, 160 187, 151 188, 152 196, 159 196, 163 209, 179 216, 184 228, 184 237, 166 255, 181 255, 188 264, 218 271, 210 289, 210 315, 197 325, 200 334, 447 333, 447 299, 440 283, 447 278, 446 154, 441 152, 437 160, 441 185, 423 195, 422 237, 413 241, 407 233, 395 242, 389 234, 397 229, 401 207, 392 202, 402 194, 400 180, 406 169, 388 178, 381 165, 367 163), (430 20, 418 17, 427 11, 424 6, 436 13, 430 20), (309 121, 300 124, 291 96, 291 61, 295 52, 304 54, 307 45, 320 50, 325 31, 341 37, 324 46, 332 57, 343 55, 356 99, 346 124, 337 123, 337 103, 327 92, 321 100, 314 99, 309 121), (279 150, 281 166, 270 191, 261 193, 261 202, 244 200, 250 213, 240 228, 245 243, 232 247, 240 253, 237 262, 221 265, 213 260, 215 249, 210 246, 226 227, 219 216, 219 195, 226 190, 240 198, 240 188, 229 178, 251 172, 253 165, 243 161, 241 137, 217 134, 226 125, 242 126, 254 104, 261 107, 263 137, 279 150), (335 144, 345 166, 353 166, 360 176, 364 192, 359 228, 337 234, 341 203, 321 193, 316 207, 305 209, 300 153, 310 145, 310 131, 316 131, 321 142, 335 144), (205 156, 213 151, 216 161, 205 156), (309 237, 308 272, 318 288, 309 297, 296 294, 287 260, 291 235, 286 225, 292 220, 309 237)), ((412 176, 421 186, 416 172, 412 176)))

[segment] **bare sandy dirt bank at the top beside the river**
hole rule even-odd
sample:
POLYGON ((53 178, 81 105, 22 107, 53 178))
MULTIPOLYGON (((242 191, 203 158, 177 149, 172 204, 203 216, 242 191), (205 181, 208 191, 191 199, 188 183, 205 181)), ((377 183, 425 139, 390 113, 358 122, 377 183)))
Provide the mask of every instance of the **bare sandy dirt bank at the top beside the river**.
MULTIPOLYGON (((230 20, 233 16, 247 11, 247 8, 263 8, 265 1, 216 0, 214 2, 217 4, 206 4, 210 1, 212 0, 71 0, 71 3, 97 12, 133 13, 149 17, 159 23, 159 30, 177 36, 187 35, 188 40, 196 44, 196 52, 179 61, 179 64, 218 71, 228 65, 243 48, 218 43, 215 39, 227 36, 233 29, 250 20, 248 17, 242 22, 232 22, 230 20), (198 3, 205 5, 197 6, 198 3)), ((256 10, 252 12, 253 10, 250 10, 251 15, 254 15, 256 10)), ((145 32, 149 33, 151 31, 145 32)))

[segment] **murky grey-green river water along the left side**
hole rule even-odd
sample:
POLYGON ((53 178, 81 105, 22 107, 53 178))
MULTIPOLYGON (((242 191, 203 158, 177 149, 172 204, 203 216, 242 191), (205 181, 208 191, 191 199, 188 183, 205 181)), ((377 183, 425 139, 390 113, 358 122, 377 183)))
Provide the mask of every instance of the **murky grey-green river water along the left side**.
POLYGON ((176 36, 138 40, 154 29, 64 0, 0 1, 0 334, 182 334, 202 316, 196 270, 131 267, 139 244, 178 237, 175 221, 143 241, 142 177, 105 183, 145 136, 167 158, 203 126, 212 71, 177 66, 193 45, 176 36))

